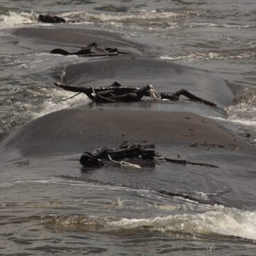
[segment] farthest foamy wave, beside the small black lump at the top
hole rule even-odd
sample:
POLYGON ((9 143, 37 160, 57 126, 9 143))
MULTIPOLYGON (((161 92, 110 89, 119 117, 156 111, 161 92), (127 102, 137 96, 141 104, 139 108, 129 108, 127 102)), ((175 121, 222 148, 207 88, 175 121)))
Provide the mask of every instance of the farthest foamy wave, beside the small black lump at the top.
MULTIPOLYGON (((140 10, 137 12, 62 12, 61 17, 67 21, 81 24, 103 26, 134 26, 149 27, 150 29, 172 29, 178 27, 218 27, 218 28, 255 28, 255 25, 244 24, 217 24, 207 22, 188 22, 178 24, 176 19, 184 17, 201 16, 201 10, 179 10, 179 11, 160 11, 160 10, 140 10), (140 21, 140 22, 139 22, 140 21)), ((56 14, 53 14, 56 15, 56 14)), ((0 28, 10 28, 20 24, 37 24, 38 14, 36 12, 14 12, 7 11, 0 15, 0 28)), ((46 26, 47 24, 44 24, 46 26)))

